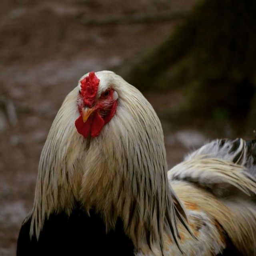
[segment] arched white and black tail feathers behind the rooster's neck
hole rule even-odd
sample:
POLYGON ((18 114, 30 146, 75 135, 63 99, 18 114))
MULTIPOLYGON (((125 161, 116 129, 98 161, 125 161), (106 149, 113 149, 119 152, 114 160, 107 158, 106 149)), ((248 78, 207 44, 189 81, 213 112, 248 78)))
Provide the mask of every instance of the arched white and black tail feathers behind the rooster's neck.
POLYGON ((171 180, 186 180, 218 196, 256 192, 254 141, 214 140, 188 154, 169 171, 171 180))

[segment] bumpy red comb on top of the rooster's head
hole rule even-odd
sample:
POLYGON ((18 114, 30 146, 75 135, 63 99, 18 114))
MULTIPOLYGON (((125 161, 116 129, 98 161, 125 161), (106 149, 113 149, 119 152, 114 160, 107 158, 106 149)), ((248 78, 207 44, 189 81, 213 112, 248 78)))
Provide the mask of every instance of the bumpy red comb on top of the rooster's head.
POLYGON ((97 78, 94 71, 89 73, 89 76, 86 76, 81 82, 81 93, 83 96, 85 106, 89 108, 92 107, 92 104, 95 100, 98 85, 100 83, 100 79, 97 78))

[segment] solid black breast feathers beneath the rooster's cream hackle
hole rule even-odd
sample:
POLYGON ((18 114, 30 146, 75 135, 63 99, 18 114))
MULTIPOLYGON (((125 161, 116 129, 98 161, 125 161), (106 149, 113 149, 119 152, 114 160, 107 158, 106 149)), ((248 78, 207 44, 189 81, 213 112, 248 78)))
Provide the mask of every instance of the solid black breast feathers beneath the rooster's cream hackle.
POLYGON ((30 240, 31 218, 21 227, 17 256, 132 256, 134 246, 124 234, 122 221, 106 234, 100 216, 90 211, 90 217, 79 206, 68 217, 64 212, 45 220, 39 240, 30 240))

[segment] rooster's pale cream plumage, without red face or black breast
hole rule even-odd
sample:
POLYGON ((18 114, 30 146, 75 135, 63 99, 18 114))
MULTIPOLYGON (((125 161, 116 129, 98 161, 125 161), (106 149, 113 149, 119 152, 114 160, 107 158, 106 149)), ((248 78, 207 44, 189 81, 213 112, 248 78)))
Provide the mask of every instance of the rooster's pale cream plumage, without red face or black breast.
POLYGON ((84 138, 74 125, 80 82, 68 94, 40 158, 30 236, 38 238, 50 214, 70 214, 78 201, 100 213, 106 230, 120 218, 137 256, 218 255, 230 244, 256 255, 255 168, 246 142, 206 144, 167 176, 164 135, 152 106, 113 72, 96 76, 97 97, 114 90, 116 113, 98 136, 84 138))

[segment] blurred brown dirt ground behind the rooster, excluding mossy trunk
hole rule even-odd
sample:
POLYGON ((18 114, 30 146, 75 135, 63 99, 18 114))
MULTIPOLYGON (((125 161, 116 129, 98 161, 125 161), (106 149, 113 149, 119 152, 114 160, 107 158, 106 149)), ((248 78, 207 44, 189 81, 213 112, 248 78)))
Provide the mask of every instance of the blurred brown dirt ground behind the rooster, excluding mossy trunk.
MULTIPOLYGON (((32 207, 40 152, 66 94, 84 73, 125 64, 145 48, 164 40, 178 23, 170 20, 86 25, 81 20, 161 13, 170 8, 187 8, 194 2, 2 0, 0 256, 15 255, 19 228, 32 207)), ((178 104, 182 93, 148 92, 145 96, 161 114, 178 104)), ((169 166, 207 140, 197 130, 173 130, 165 120, 162 124, 169 166)))

